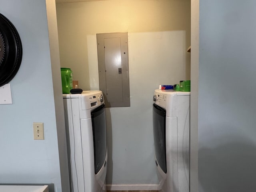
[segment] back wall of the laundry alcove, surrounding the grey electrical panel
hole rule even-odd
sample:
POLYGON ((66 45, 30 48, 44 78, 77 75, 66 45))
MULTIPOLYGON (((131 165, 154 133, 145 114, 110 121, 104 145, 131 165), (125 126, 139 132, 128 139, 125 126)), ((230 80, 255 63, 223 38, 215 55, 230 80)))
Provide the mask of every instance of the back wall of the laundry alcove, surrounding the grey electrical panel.
POLYGON ((106 110, 107 184, 112 190, 150 189, 158 184, 152 96, 159 84, 190 78, 190 1, 108 0, 56 8, 61 66, 73 70, 84 90, 99 89, 96 34, 128 32, 131 106, 106 110))

